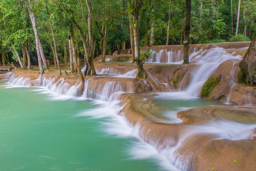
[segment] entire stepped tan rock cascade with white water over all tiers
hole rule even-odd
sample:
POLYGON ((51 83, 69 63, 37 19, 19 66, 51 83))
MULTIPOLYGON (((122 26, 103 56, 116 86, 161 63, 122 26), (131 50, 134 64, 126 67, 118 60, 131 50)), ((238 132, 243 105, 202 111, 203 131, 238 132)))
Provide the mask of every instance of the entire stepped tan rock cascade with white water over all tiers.
POLYGON ((137 68, 129 62, 131 52, 119 51, 108 55, 106 63, 95 59, 97 76, 87 76, 83 89, 80 79, 50 73, 13 70, 0 79, 9 80, 11 87, 44 88, 63 99, 107 101, 138 139, 168 161, 171 170, 210 170, 214 159, 209 157, 216 157, 212 163, 220 164, 224 158, 233 160, 236 152, 240 156, 235 155, 235 160, 246 157, 245 163, 230 166, 221 162, 220 168, 246 165, 251 169, 255 167, 249 165, 248 156, 255 157, 251 149, 256 149, 256 88, 238 83, 238 64, 249 44, 192 44, 190 64, 181 64, 182 46, 152 46, 151 59, 144 64, 147 80, 135 77, 137 68), (127 61, 118 62, 124 55, 127 61), (206 97, 216 101, 200 98, 202 87, 211 78, 218 84, 206 97), (210 152, 213 154, 208 155, 210 152))

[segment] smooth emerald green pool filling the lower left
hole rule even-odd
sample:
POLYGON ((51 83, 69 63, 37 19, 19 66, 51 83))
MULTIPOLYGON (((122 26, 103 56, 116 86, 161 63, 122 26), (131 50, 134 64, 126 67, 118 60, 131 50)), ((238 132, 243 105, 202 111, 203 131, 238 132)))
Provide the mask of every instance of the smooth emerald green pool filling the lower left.
POLYGON ((6 83, 0 81, 0 170, 166 170, 161 155, 135 136, 104 131, 113 119, 92 117, 102 104, 52 100, 39 88, 6 83))

